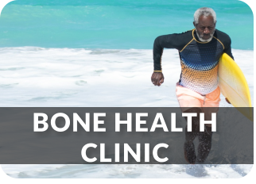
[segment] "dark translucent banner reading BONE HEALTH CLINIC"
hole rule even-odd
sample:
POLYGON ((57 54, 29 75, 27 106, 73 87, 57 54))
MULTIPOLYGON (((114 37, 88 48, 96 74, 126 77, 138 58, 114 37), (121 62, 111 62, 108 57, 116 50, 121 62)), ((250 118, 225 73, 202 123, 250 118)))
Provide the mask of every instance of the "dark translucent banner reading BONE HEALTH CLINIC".
POLYGON ((0 163, 253 164, 254 122, 230 107, 0 108, 0 163))

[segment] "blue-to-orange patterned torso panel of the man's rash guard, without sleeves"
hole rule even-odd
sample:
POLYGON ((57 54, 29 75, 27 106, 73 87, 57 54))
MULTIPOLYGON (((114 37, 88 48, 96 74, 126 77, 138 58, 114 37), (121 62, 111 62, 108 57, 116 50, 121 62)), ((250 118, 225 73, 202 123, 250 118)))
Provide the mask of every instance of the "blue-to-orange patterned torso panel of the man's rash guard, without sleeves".
POLYGON ((204 43, 193 36, 180 51, 180 85, 202 95, 214 91, 218 87, 218 64, 223 50, 223 44, 215 37, 204 43))

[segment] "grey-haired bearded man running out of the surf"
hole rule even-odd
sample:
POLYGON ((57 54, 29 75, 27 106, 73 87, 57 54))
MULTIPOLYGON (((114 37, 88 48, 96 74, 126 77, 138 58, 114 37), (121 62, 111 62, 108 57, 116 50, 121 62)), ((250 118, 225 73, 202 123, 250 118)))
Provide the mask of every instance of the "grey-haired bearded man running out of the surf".
MULTIPOLYGON (((195 29, 180 34, 158 36, 153 44, 154 71, 151 81, 161 86, 164 75, 161 56, 164 48, 179 51, 181 74, 176 84, 176 97, 184 113, 197 113, 192 119, 192 132, 185 132, 184 156, 188 163, 204 163, 211 150, 211 125, 199 132, 199 113, 211 120, 211 113, 219 110, 220 90, 218 86, 219 57, 231 53, 231 38, 217 29, 216 14, 211 8, 200 8, 194 14, 195 29), (211 107, 211 108, 205 108, 211 107), (193 140, 199 136, 200 144, 196 156, 193 140)), ((227 99, 226 99, 227 100, 227 99)), ((228 102, 228 100, 227 100, 228 102)))

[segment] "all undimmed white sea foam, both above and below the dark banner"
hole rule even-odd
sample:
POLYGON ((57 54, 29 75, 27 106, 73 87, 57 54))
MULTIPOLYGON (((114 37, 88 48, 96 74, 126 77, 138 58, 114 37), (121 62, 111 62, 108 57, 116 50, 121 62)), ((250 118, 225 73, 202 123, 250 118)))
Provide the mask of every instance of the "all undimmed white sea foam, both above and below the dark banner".
MULTIPOLYGON (((254 51, 233 50, 254 102, 254 51)), ((152 50, 0 48, 1 107, 173 107, 176 50, 162 57, 153 86, 152 50)), ((220 106, 231 106, 223 96, 220 106)), ((252 165, 2 165, 13 178, 242 178, 252 165)))

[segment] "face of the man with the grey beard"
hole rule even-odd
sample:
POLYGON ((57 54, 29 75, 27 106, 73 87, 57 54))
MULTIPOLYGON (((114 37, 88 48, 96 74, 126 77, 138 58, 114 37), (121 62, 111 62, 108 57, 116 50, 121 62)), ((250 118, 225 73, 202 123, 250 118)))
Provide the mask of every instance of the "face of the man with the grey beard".
POLYGON ((215 23, 211 15, 208 17, 201 15, 198 24, 196 25, 194 22, 194 25, 200 41, 211 41, 212 36, 215 33, 215 23))

